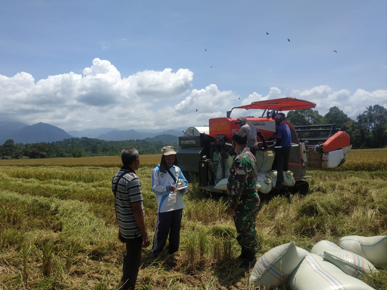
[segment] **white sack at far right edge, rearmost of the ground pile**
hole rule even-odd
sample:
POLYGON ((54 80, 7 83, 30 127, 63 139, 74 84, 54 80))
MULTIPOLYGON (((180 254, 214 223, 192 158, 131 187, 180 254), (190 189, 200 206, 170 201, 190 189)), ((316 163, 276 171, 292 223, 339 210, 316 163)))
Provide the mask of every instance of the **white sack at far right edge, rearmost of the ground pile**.
POLYGON ((387 236, 346 236, 340 239, 339 246, 376 266, 387 266, 387 236))

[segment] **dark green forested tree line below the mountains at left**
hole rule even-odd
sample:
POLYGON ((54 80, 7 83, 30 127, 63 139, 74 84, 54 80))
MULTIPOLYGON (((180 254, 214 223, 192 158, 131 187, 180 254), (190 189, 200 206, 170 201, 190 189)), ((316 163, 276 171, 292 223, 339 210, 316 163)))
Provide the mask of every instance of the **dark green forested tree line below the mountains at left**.
POLYGON ((114 156, 120 155, 121 150, 125 147, 134 147, 139 151, 139 154, 161 154, 161 148, 164 146, 178 148, 178 143, 148 142, 140 139, 105 141, 82 137, 51 143, 15 144, 12 139, 8 139, 3 145, 0 145, 0 152, 2 152, 2 158, 15 159, 22 158, 22 156, 28 158, 114 156))

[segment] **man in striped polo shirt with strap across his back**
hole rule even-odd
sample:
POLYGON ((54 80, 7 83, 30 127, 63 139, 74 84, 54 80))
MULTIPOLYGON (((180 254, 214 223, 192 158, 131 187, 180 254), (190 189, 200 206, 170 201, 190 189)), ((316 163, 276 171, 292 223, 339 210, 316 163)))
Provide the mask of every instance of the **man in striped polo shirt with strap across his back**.
POLYGON ((134 290, 142 248, 148 247, 151 240, 144 221, 141 181, 135 173, 140 165, 139 152, 132 147, 125 148, 121 152, 121 160, 123 166, 111 182, 118 221, 118 239, 126 244, 120 289, 134 290))

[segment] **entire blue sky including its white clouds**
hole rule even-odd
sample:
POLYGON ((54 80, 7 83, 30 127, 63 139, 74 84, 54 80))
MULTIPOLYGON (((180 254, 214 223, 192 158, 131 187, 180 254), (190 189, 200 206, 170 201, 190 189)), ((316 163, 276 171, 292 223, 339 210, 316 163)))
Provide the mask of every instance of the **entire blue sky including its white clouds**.
POLYGON ((173 129, 294 96, 356 119, 387 107, 386 15, 385 0, 4 2, 0 118, 173 129))

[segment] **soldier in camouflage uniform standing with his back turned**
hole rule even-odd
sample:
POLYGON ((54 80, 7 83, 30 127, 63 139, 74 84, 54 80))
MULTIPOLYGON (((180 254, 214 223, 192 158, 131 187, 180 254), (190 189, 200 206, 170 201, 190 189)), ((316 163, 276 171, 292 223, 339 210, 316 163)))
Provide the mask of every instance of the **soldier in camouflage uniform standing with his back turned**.
POLYGON ((255 187, 257 183, 257 162, 247 147, 247 135, 238 132, 233 135, 233 149, 237 153, 230 168, 227 182, 227 214, 233 216, 236 240, 241 245, 241 266, 250 267, 255 263, 258 240, 255 221, 259 207, 259 196, 255 187))

